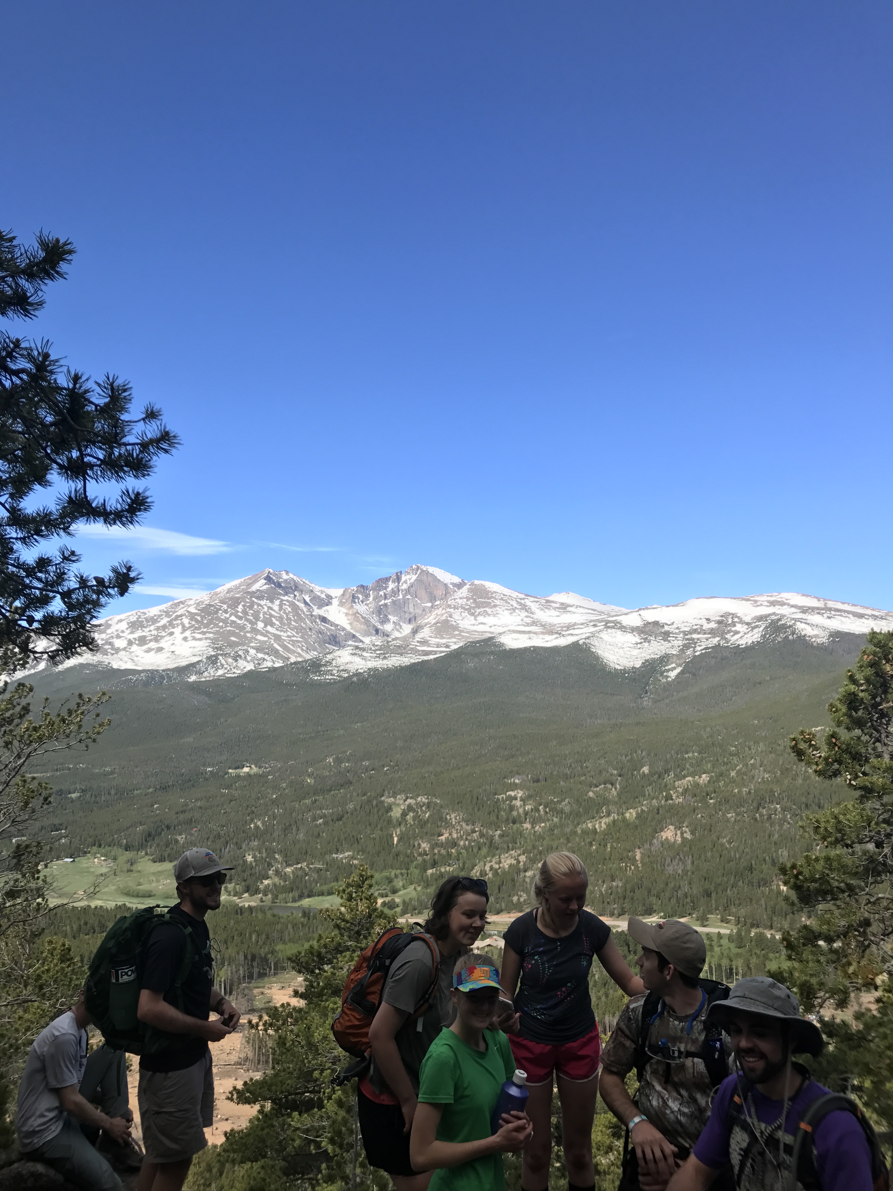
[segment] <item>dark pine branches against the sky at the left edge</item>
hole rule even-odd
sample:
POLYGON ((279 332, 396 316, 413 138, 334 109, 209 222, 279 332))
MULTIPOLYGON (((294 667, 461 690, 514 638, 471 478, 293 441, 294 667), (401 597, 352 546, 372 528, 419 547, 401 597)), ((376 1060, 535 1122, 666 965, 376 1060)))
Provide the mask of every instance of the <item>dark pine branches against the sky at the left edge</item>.
MULTIPOLYGON (((38 233, 33 247, 0 231, 0 316, 32 319, 50 281, 65 276, 70 241, 38 233)), ((46 341, 0 332, 0 668, 61 661, 94 644, 90 623, 139 579, 129 562, 107 575, 79 569, 55 540, 81 524, 135 525, 151 501, 145 479, 177 445, 161 410, 130 416, 126 381, 95 386, 65 368, 46 341), (108 485, 119 485, 111 495, 108 485), (42 493, 51 503, 36 504, 42 493)))

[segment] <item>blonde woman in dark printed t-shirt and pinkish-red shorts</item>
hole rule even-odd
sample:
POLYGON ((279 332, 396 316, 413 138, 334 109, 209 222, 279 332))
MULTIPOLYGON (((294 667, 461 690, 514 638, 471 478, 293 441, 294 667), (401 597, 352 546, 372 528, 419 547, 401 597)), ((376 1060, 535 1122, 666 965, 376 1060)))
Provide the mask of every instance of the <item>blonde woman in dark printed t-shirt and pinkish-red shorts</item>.
POLYGON ((568 1191, 592 1191, 595 1184, 592 1122, 601 1043, 589 998, 593 958, 627 997, 644 992, 611 928, 585 909, 588 884, 579 856, 554 852, 533 883, 536 909, 505 933, 502 987, 517 1010, 512 1053, 527 1073, 527 1116, 533 1124, 524 1149, 523 1191, 549 1186, 552 1079, 561 1099, 568 1191))

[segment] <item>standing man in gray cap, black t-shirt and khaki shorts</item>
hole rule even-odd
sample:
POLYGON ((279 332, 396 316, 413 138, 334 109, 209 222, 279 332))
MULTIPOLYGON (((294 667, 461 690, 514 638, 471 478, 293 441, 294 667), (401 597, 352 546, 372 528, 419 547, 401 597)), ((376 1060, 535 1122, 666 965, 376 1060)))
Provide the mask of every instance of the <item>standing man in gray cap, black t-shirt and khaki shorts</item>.
POLYGON ((145 1161, 138 1191, 180 1191, 193 1156, 207 1145, 214 1111, 208 1042, 232 1034, 239 1014, 213 987, 205 916, 220 909, 226 873, 207 848, 191 848, 174 865, 180 904, 145 944, 139 981, 140 1022, 152 1027, 139 1059, 139 1118, 145 1161), (219 1019, 208 1021, 211 1014, 219 1019))

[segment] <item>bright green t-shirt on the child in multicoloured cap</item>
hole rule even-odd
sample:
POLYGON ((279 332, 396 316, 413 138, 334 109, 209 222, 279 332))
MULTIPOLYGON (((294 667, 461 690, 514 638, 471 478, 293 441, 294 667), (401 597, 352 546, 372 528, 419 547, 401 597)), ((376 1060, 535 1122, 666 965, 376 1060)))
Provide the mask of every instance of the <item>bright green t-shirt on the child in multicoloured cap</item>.
MULTIPOLYGON (((438 1141, 489 1137, 489 1118, 500 1089, 514 1074, 508 1039, 485 1030, 486 1050, 473 1050, 458 1035, 443 1029, 431 1043, 419 1073, 419 1102, 443 1104, 438 1141)), ((435 1171, 429 1191, 502 1191, 502 1155, 435 1171)))

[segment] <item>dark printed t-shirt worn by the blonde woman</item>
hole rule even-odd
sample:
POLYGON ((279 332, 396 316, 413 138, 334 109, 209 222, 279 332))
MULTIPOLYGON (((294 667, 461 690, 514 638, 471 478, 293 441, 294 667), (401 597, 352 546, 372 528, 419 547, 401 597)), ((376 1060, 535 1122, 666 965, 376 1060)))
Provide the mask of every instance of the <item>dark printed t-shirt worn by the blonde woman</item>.
POLYGON ((595 1025, 589 968, 593 956, 611 937, 611 928, 582 910, 569 935, 551 939, 537 927, 536 915, 536 910, 529 910, 505 933, 506 946, 522 961, 514 1008, 522 1015, 522 1037, 562 1046, 583 1037, 595 1025))

